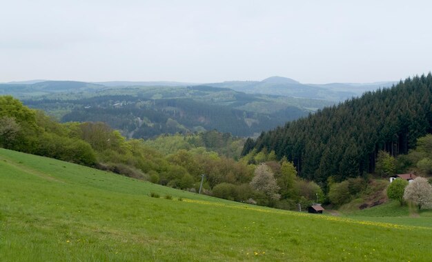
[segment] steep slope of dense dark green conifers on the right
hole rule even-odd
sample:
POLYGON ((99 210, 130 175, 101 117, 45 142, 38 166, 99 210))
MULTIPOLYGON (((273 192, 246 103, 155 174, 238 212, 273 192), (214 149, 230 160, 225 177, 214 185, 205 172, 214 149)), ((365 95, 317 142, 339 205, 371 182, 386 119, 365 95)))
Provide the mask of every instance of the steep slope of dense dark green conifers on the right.
POLYGON ((366 92, 248 139, 243 154, 274 150, 295 163, 300 177, 323 183, 373 172, 379 150, 406 154, 432 131, 431 92, 431 73, 366 92))

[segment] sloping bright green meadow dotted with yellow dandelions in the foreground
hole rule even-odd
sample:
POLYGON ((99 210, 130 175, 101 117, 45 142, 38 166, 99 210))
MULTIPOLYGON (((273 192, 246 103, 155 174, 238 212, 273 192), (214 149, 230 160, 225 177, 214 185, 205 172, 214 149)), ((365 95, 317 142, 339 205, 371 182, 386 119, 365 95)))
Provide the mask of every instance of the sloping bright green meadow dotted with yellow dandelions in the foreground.
POLYGON ((431 257, 432 228, 424 225, 243 205, 0 149, 0 261, 431 257))

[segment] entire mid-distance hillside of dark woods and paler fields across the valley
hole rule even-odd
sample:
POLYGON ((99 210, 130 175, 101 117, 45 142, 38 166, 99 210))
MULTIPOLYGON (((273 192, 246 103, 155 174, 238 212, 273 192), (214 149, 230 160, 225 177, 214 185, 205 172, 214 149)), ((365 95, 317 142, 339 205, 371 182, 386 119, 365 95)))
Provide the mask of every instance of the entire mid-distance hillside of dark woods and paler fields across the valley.
POLYGON ((63 122, 102 121, 128 138, 204 130, 257 136, 330 101, 245 94, 227 88, 135 87, 55 93, 24 103, 63 122))

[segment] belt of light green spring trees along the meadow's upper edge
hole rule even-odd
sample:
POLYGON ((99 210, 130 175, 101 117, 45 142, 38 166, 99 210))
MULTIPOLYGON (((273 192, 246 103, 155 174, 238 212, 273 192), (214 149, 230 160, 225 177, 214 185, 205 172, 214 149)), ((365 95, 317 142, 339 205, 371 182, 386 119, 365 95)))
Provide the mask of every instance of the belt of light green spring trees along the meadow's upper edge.
POLYGON ((320 186, 297 177, 293 163, 275 154, 239 159, 244 139, 215 130, 126 139, 102 122, 58 123, 13 97, 0 97, 0 147, 109 170, 135 179, 224 199, 294 209, 320 186), (237 159, 237 160, 235 160, 237 159))

